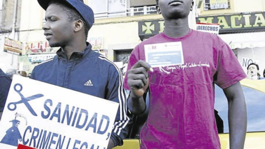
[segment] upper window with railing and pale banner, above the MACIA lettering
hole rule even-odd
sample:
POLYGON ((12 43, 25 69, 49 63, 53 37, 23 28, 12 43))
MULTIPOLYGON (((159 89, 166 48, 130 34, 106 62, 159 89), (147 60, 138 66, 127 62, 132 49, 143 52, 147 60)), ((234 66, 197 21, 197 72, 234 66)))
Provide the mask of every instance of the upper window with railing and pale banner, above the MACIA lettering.
POLYGON ((230 0, 204 0, 204 10, 230 8, 230 0))

